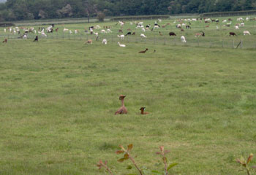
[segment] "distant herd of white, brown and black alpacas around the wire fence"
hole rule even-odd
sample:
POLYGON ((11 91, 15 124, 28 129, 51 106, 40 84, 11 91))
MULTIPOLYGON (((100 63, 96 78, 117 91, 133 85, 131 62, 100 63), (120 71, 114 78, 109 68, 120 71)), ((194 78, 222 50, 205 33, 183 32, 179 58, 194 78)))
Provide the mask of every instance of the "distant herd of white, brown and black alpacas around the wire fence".
MULTIPOLYGON (((196 24, 195 22, 200 22, 200 23, 205 23, 204 28, 208 28, 210 25, 216 25, 216 29, 219 30, 220 27, 225 27, 225 30, 228 29, 230 30, 228 32, 229 36, 237 36, 236 32, 233 30, 240 30, 241 28, 243 28, 244 26, 246 26, 246 23, 248 21, 251 20, 256 20, 256 18, 249 18, 246 17, 244 18, 237 18, 236 19, 236 25, 234 25, 234 28, 232 28, 232 23, 233 20, 231 18, 228 18, 227 20, 222 20, 219 21, 218 19, 212 19, 212 18, 186 18, 186 19, 177 19, 173 21, 173 24, 175 25, 175 27, 181 31, 181 42, 182 43, 187 43, 187 39, 184 36, 184 34, 182 34, 183 31, 185 30, 190 30, 191 28, 193 28, 196 24)), ((159 36, 163 36, 162 32, 160 31, 162 28, 167 28, 167 26, 170 26, 170 23, 166 23, 166 24, 162 24, 162 20, 158 19, 156 20, 153 24, 144 24, 143 21, 140 22, 129 22, 129 23, 125 23, 124 21, 118 21, 118 23, 113 24, 113 26, 89 26, 84 28, 84 31, 86 34, 89 35, 93 35, 96 36, 96 39, 88 39, 85 44, 92 44, 93 40, 98 40, 99 39, 99 35, 104 35, 106 36, 106 34, 113 34, 113 29, 118 30, 118 34, 116 35, 116 37, 118 37, 119 42, 117 42, 119 47, 126 47, 126 44, 121 44, 122 41, 124 41, 125 37, 129 36, 129 35, 136 35, 136 32, 140 32, 139 36, 141 39, 146 39, 147 36, 147 32, 150 31, 157 31, 159 33, 159 36), (127 29, 127 32, 124 33, 124 26, 129 25, 129 28, 127 29), (132 28, 133 27, 133 28, 132 28)), ((17 39, 28 39, 29 34, 36 34, 37 36, 34 38, 34 42, 38 42, 39 41, 39 35, 41 37, 48 37, 49 33, 53 33, 53 32, 59 32, 59 28, 55 28, 55 25, 52 24, 50 26, 48 26, 47 28, 45 27, 39 27, 38 29, 34 28, 34 27, 30 27, 30 28, 26 28, 26 27, 10 27, 10 28, 4 28, 4 33, 8 33, 8 34, 13 34, 13 35, 17 35, 17 39)), ((70 30, 66 27, 64 27, 63 29, 63 33, 67 33, 68 34, 78 34, 81 31, 79 29, 75 29, 75 30, 70 30)), ((245 35, 251 35, 251 33, 248 30, 244 30, 243 31, 244 36, 245 35)), ((108 44, 108 39, 104 38, 102 39, 102 44, 108 44)), ((175 37, 177 36, 177 34, 174 31, 170 31, 169 32, 169 36, 170 37, 175 37)), ((197 33, 195 33, 195 37, 205 37, 206 33, 203 30, 198 31, 197 33)), ((7 39, 5 38, 4 43, 7 43, 7 39)))

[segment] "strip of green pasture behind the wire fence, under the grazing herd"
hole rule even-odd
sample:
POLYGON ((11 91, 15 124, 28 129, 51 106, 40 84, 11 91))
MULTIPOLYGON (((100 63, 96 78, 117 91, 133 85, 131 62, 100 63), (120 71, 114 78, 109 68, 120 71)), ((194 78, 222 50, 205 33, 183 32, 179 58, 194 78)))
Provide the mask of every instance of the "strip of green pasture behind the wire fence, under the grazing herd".
MULTIPOLYGON (((160 28, 154 29, 151 31, 151 29, 154 27, 154 21, 155 20, 137 20, 137 21, 126 21, 126 24, 123 28, 119 25, 118 21, 113 22, 106 22, 106 23, 78 23, 78 24, 56 24, 55 28, 59 28, 58 32, 53 33, 45 33, 48 35, 47 37, 41 36, 41 34, 38 34, 38 27, 45 27, 47 28, 48 25, 44 26, 38 26, 39 23, 35 23, 37 26, 33 25, 33 23, 25 23, 30 24, 30 26, 20 26, 23 25, 23 23, 18 23, 18 27, 23 28, 34 28, 34 30, 37 31, 37 34, 34 34, 34 32, 29 33, 29 39, 34 39, 36 35, 39 36, 39 39, 69 39, 69 40, 88 40, 88 39, 96 39, 96 35, 89 34, 89 26, 101 26, 101 28, 94 29, 94 33, 99 34, 99 40, 102 39, 108 39, 108 42, 117 43, 120 39, 117 37, 117 35, 121 34, 127 34, 130 32, 135 32, 135 35, 128 35, 124 37, 124 40, 121 40, 121 42, 132 42, 132 43, 144 43, 144 44, 168 44, 168 45, 184 45, 184 43, 181 43, 181 36, 185 36, 187 39, 187 43, 185 45, 192 46, 192 47, 219 47, 219 48, 234 48, 238 45, 239 42, 241 44, 239 45, 239 48, 245 48, 245 49, 256 49, 256 41, 255 41, 255 35, 256 35, 256 20, 252 20, 254 17, 251 17, 251 20, 246 21, 246 17, 243 17, 244 20, 237 21, 238 17, 230 18, 233 21, 228 21, 228 18, 218 18, 219 23, 213 22, 213 23, 204 23, 203 21, 200 22, 199 20, 191 21, 189 25, 189 21, 182 21, 181 23, 184 23, 186 25, 191 26, 191 29, 186 29, 185 26, 184 31, 181 31, 180 28, 176 28, 176 26, 180 23, 177 19, 173 20, 162 20, 161 23, 158 23, 160 28), (227 20, 227 22, 222 23, 222 20, 227 20), (135 28, 135 22, 143 21, 143 26, 146 28, 146 25, 150 24, 151 26, 144 31, 142 31, 141 28, 135 28), (175 21, 175 23, 174 23, 175 21), (236 29, 236 25, 245 23, 245 26, 238 27, 239 29, 236 29), (132 23, 132 25, 130 25, 132 23), (170 25, 167 25, 167 24, 170 25), (227 27, 227 24, 229 27, 227 27), (226 25, 226 26, 225 26, 226 25), (103 28, 103 26, 110 27, 111 32, 107 34, 102 34, 101 31, 104 29, 107 31, 106 28, 103 28), (163 28, 162 26, 165 26, 163 28), (218 26, 218 29, 217 29, 218 26), (67 28, 68 30, 64 32, 64 28, 67 28), (121 29, 121 32, 118 32, 121 29), (72 31, 72 34, 69 34, 69 30, 72 31), (78 34, 75 34, 75 30, 78 30, 78 34), (87 33, 85 31, 88 31, 87 33), (173 31, 176 33, 176 36, 169 36, 169 32, 173 31), (202 34, 201 31, 203 31, 206 36, 202 37, 195 37, 195 34, 202 34), (244 36, 243 32, 249 31, 251 35, 244 36), (159 32, 161 34, 159 34, 159 32), (230 32, 235 32, 236 36, 230 36, 230 32), (147 38, 140 37, 140 34, 145 34, 147 38)), ((215 18, 217 19, 217 18, 215 18)), ((20 35, 23 34, 23 30, 20 30, 20 35)), ((7 28, 7 32, 4 33, 4 28, 0 28, 0 39, 17 39, 18 34, 10 32, 7 28)))

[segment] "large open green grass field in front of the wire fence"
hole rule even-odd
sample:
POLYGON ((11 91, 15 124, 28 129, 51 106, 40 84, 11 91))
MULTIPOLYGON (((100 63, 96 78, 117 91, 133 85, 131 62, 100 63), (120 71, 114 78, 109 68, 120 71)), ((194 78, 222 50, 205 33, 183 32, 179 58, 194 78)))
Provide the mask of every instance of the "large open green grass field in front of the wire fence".
POLYGON ((115 154, 131 143, 140 167, 162 170, 163 145, 179 163, 171 174, 244 174, 235 160, 256 154, 256 50, 84 40, 0 44, 0 174, 105 174, 99 159, 135 174, 115 154), (120 94, 128 114, 114 115, 120 94))

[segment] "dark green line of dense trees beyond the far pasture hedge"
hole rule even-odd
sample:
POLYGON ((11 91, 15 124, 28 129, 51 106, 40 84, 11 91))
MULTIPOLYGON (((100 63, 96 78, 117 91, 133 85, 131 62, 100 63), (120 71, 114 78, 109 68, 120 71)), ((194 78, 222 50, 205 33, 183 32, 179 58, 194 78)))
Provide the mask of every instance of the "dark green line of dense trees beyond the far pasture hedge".
POLYGON ((7 0, 0 20, 175 15, 256 9, 256 0, 7 0))

